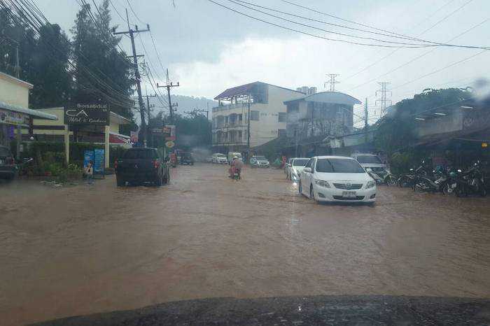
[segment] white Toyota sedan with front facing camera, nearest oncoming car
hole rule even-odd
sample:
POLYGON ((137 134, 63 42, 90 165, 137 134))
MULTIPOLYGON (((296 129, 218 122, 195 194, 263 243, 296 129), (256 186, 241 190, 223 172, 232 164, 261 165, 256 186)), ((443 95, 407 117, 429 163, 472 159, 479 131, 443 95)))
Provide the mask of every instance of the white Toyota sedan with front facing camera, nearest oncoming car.
POLYGON ((301 172, 299 192, 317 202, 376 201, 376 183, 351 157, 311 157, 301 172))

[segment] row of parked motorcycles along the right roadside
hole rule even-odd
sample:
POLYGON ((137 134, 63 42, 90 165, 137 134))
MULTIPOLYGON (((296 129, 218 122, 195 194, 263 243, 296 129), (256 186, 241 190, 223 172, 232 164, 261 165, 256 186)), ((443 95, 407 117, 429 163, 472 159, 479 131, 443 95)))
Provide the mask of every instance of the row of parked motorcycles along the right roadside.
POLYGON ((423 161, 421 166, 410 169, 397 179, 400 187, 412 187, 419 192, 442 192, 467 197, 470 194, 486 196, 486 185, 481 162, 477 161, 467 169, 439 167, 433 170, 423 161))

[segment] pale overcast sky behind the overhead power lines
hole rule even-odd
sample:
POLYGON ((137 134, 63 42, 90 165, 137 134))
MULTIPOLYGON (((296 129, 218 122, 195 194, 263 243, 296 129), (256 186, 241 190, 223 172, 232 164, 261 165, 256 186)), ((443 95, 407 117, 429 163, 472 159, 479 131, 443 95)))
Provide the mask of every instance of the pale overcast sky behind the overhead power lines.
MULTIPOLYGON (((127 1, 112 0, 122 15, 125 15, 125 8, 128 8, 132 24, 144 27, 130 10, 127 1)), ((221 8, 208 0, 174 0, 175 7, 172 0, 129 1, 139 19, 150 24, 162 66, 169 69, 172 80, 181 83, 181 87, 174 89, 176 94, 213 98, 226 88, 256 80, 290 88, 316 86, 320 91, 324 90, 323 83, 327 79, 325 75, 338 73, 340 83, 336 85, 336 90, 346 92, 363 102, 367 97, 370 115, 374 116, 379 115, 379 109, 375 107, 378 82, 391 83, 388 87, 393 90, 391 99, 395 103, 428 87, 471 85, 477 78, 485 78, 490 73, 490 53, 477 55, 481 50, 393 50, 351 45, 270 26, 221 8), (428 53, 425 54, 426 52, 428 53), (476 56, 423 77, 472 55, 476 56), (415 59, 419 56, 419 59, 415 59), (385 58, 381 59, 383 57, 385 58), (412 59, 415 60, 409 63, 412 59), (390 72, 402 64, 406 65, 390 72), (412 80, 416 81, 409 83, 412 80)), ((295 26, 290 22, 241 8, 230 0, 214 1, 269 22, 328 38, 370 42, 295 26)), ((297 8, 281 0, 246 1, 316 20, 364 28, 297 8)), ((437 42, 448 42, 490 17, 488 0, 291 1, 380 29, 437 42)), ((36 2, 51 22, 62 25, 66 31, 73 25, 76 11, 80 8, 76 0, 36 2)), ((299 20, 294 17, 291 19, 299 20)), ((299 21, 330 31, 377 37, 322 23, 299 21)), ((120 29, 127 29, 127 24, 117 13, 113 13, 113 24, 119 24, 120 29)), ((489 30, 490 21, 484 22, 450 43, 490 45, 489 30)), ((146 59, 151 62, 158 76, 165 77, 153 50, 150 35, 141 34, 139 38, 141 39, 137 39, 136 43, 138 51, 143 52, 143 41, 147 51, 146 59)), ((128 52, 130 50, 127 38, 123 41, 123 48, 128 52)))

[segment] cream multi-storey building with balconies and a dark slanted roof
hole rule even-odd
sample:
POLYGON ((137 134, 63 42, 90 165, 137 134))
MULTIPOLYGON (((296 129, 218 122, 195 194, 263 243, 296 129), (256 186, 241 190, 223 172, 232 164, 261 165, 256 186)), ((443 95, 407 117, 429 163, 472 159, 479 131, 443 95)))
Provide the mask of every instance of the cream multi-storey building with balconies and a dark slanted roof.
POLYGON ((284 101, 304 97, 304 93, 262 82, 229 88, 219 94, 213 108, 213 148, 216 152, 245 152, 278 136, 286 136, 284 101), (250 120, 248 120, 250 111, 250 120))

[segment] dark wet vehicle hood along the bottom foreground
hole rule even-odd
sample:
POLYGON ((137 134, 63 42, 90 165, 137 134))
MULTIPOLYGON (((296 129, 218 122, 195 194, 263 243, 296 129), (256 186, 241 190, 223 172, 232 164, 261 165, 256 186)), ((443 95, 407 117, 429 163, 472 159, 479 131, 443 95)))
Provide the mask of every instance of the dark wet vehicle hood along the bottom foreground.
POLYGON ((35 325, 488 325, 490 300, 384 295, 167 302, 35 325))

